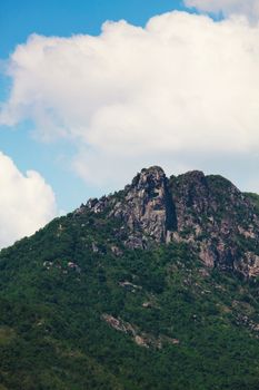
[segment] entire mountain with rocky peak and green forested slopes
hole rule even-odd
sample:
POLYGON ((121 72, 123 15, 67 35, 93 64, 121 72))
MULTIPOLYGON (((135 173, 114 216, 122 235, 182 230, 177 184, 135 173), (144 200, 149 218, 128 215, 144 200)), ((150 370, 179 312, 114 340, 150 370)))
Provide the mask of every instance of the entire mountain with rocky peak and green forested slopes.
POLYGON ((258 204, 153 166, 2 250, 0 389, 258 389, 258 204))

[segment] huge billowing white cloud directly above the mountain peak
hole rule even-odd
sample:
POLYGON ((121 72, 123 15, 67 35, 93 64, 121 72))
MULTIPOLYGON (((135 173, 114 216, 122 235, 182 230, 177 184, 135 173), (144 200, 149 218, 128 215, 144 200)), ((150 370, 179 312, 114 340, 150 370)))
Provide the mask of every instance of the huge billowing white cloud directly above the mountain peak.
POLYGON ((0 120, 71 139, 74 169, 96 183, 149 164, 231 166, 258 153, 258 69, 259 28, 240 18, 169 12, 145 28, 107 22, 98 37, 33 35, 7 65, 0 120))

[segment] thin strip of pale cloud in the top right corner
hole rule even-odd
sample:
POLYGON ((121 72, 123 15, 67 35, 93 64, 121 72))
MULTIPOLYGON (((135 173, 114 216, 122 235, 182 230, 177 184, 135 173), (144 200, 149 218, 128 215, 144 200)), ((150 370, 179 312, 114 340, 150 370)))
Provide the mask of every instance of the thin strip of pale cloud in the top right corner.
POLYGON ((225 16, 246 14, 252 20, 259 18, 259 0, 185 0, 183 2, 187 7, 205 12, 222 12, 225 16))

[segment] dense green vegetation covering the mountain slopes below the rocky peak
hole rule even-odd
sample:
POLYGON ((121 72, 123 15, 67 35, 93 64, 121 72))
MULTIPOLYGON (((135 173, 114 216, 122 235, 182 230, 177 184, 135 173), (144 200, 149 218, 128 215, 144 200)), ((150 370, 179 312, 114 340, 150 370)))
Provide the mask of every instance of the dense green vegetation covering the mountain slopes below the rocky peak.
POLYGON ((258 281, 117 224, 69 214, 1 251, 0 389, 257 390, 258 281))

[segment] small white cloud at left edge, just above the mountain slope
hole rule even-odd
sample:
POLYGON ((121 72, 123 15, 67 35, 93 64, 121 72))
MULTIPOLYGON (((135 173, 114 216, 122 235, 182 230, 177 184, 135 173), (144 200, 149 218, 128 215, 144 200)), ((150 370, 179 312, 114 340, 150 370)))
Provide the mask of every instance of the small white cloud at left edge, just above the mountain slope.
POLYGON ((34 233, 57 215, 54 195, 39 173, 23 175, 0 152, 0 247, 34 233))

